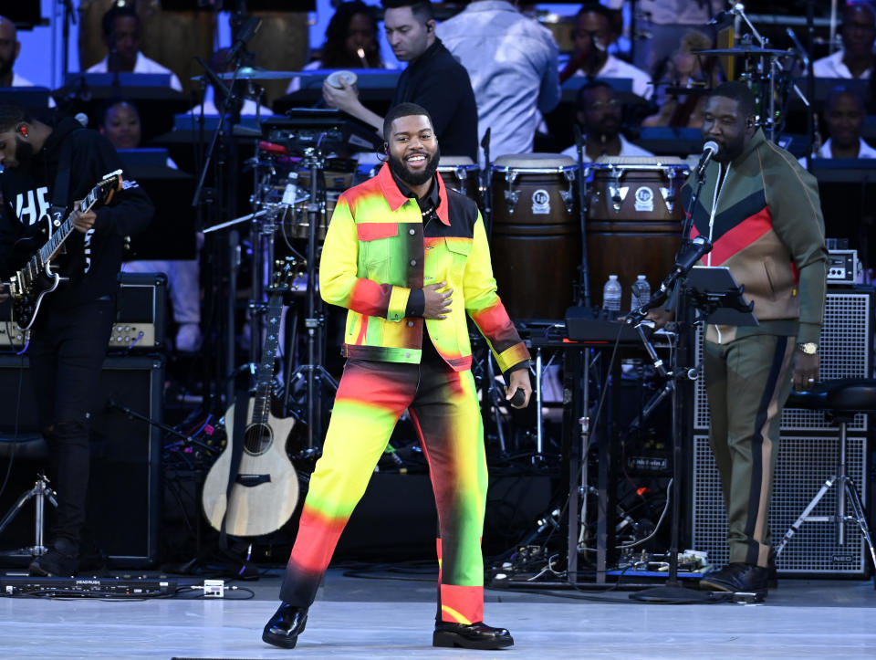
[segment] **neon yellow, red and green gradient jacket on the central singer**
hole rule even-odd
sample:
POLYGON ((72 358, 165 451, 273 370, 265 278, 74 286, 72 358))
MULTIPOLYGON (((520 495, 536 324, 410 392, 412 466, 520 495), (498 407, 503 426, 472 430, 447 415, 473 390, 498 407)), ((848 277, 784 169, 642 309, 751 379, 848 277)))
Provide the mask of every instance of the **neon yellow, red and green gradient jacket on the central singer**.
POLYGON ((472 365, 468 312, 506 372, 529 352, 496 294, 484 221, 474 202, 448 190, 441 174, 436 179, 438 217, 425 225, 419 204, 401 193, 389 166, 340 195, 319 291, 326 302, 349 309, 341 353, 418 364, 425 321, 437 351, 461 372, 472 365), (454 289, 447 318, 406 317, 412 289, 438 282, 454 289))

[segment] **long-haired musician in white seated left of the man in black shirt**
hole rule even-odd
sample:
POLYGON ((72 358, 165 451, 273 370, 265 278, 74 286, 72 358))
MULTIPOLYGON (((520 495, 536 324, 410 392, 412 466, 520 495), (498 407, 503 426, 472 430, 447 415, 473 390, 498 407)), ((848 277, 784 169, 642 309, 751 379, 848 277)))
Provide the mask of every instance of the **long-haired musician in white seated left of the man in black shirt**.
MULTIPOLYGON (((319 58, 309 62, 302 71, 326 68, 391 68, 381 58, 381 42, 377 35, 377 13, 361 0, 338 5, 328 21, 326 40, 319 58)), ((301 79, 289 83, 287 94, 301 89, 301 79)))

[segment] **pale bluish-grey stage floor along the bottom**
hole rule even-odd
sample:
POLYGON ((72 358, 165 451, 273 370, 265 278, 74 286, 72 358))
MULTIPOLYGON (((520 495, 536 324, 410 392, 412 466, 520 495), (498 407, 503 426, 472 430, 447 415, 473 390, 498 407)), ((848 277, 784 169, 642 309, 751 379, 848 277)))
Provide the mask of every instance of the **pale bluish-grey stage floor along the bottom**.
MULTIPOLYGON (((251 600, 0 600, 5 658, 806 658, 876 657, 873 581, 782 580, 758 605, 631 603, 628 592, 487 590, 485 620, 513 648, 432 647, 431 581, 365 580, 332 570, 294 651, 261 641, 277 571, 239 582, 251 600), (571 600, 584 597, 588 600, 571 600), (602 599, 602 600, 596 600, 602 599)), ((190 580, 186 578, 186 580, 190 580)), ((236 583, 236 582, 235 582, 236 583)))

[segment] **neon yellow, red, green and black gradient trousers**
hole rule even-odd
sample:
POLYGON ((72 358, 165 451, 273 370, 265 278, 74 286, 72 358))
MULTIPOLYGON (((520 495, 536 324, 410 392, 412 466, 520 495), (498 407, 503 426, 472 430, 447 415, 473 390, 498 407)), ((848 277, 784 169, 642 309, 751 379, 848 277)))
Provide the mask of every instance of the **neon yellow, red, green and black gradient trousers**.
POLYGON ((400 415, 407 408, 429 462, 438 508, 438 619, 483 621, 484 427, 470 371, 431 347, 421 364, 348 360, 280 598, 308 607, 400 415))

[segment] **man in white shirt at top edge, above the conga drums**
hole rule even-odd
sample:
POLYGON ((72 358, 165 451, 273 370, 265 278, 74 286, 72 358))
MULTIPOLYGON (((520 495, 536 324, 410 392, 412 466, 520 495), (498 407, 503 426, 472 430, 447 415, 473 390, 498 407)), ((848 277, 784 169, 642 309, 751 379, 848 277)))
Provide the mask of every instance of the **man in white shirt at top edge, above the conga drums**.
POLYGON ((560 71, 559 81, 565 82, 572 76, 628 78, 632 80, 633 93, 650 100, 654 90, 651 76, 609 52, 618 38, 612 26, 611 10, 589 2, 581 5, 576 20, 575 52, 560 71))

